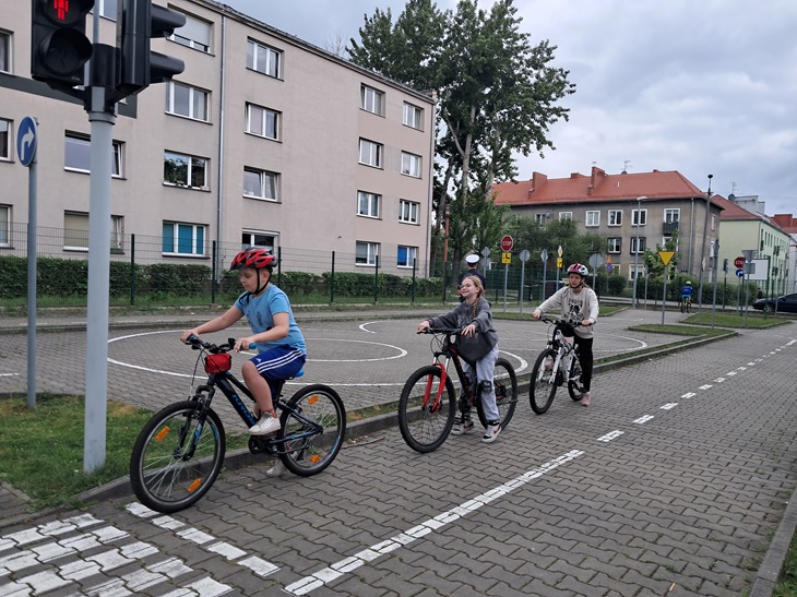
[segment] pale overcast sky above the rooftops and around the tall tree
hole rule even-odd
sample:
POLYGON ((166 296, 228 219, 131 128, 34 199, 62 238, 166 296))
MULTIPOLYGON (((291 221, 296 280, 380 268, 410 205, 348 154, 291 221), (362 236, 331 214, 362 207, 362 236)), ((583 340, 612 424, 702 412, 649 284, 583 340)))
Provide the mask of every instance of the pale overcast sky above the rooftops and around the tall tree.
MULTIPOLYGON (((226 0, 323 48, 358 38, 364 15, 396 0, 226 0)), ((452 0, 438 0, 453 9, 452 0)), ((490 0, 479 5, 489 9, 490 0)), ((698 188, 759 195, 797 216, 797 1, 515 0, 532 44, 570 71, 570 121, 556 151, 519 156, 519 179, 678 170, 698 188)))

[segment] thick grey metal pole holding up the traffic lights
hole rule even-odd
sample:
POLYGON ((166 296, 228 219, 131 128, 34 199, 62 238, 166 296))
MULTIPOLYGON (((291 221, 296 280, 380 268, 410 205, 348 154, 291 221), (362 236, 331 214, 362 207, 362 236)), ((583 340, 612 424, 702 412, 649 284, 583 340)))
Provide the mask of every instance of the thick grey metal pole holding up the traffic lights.
POLYGON ((106 110, 106 88, 90 87, 92 123, 88 213, 88 309, 83 470, 105 465, 108 410, 108 308, 110 288, 110 180, 116 116, 106 110))

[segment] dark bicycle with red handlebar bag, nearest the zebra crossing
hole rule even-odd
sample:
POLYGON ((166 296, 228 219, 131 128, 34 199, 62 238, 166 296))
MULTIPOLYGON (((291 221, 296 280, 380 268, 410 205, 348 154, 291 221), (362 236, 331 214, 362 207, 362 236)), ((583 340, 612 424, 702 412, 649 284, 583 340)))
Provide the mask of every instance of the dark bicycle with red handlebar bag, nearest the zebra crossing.
MULTIPOLYGON (((203 357, 207 381, 195 387, 190 399, 156 413, 139 433, 130 456, 130 483, 135 495, 147 508, 163 513, 197 503, 222 469, 226 435, 222 420, 211 407, 216 389, 247 428, 258 421, 241 399, 242 394, 254 401, 252 393, 229 371, 235 339, 215 345, 191 336, 186 344, 200 350, 191 384, 203 357)), ((325 469, 341 451, 346 410, 337 393, 323 384, 302 387, 284 401, 282 390, 286 381, 279 380, 273 386, 274 407, 282 411, 279 431, 251 435, 249 451, 275 455, 290 473, 309 477, 325 469)))

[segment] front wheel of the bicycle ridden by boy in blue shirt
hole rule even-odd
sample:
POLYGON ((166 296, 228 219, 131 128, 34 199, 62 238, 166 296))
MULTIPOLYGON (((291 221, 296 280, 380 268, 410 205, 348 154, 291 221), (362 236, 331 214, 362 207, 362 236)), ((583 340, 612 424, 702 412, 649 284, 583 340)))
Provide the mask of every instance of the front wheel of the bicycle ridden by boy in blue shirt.
POLYGON ((142 504, 163 513, 197 503, 224 463, 222 420, 197 402, 170 404, 139 433, 130 455, 130 485, 142 504))

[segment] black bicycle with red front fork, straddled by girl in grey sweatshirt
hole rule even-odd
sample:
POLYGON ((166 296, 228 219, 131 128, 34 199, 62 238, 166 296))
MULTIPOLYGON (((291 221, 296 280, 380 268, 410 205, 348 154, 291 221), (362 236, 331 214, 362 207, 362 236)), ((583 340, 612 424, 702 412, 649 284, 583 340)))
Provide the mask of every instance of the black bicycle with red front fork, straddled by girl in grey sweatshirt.
MULTIPOLYGON (((448 327, 427 327, 419 332, 435 336, 431 339, 435 360, 409 375, 398 401, 398 429, 407 445, 417 452, 427 453, 440 447, 454 427, 457 398, 454 382, 449 374, 450 363, 454 365, 462 389, 460 405, 475 406, 479 421, 487 427, 481 397, 475 391, 479 386, 479 380, 471 383, 462 368, 462 360, 471 365, 474 372, 476 367, 456 348, 456 337, 461 332, 461 329, 448 327)), ((512 419, 518 402, 518 377, 507 359, 499 358, 496 361, 492 384, 503 430, 512 419)))

